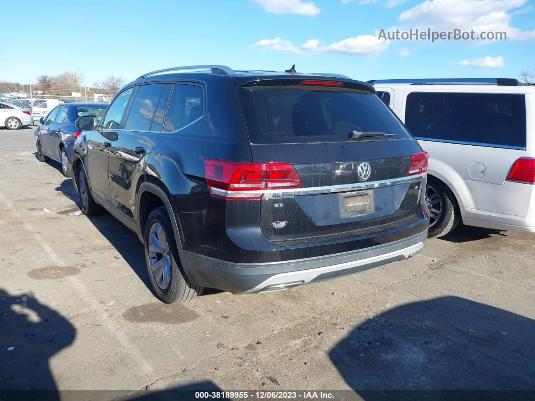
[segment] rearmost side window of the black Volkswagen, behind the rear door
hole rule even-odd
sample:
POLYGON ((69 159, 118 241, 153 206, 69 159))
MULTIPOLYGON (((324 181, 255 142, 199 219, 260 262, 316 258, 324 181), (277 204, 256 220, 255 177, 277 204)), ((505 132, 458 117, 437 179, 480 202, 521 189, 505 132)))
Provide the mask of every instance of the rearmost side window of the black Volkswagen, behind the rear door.
POLYGON ((176 131, 203 115, 203 89, 197 85, 175 84, 167 108, 164 131, 176 131))

